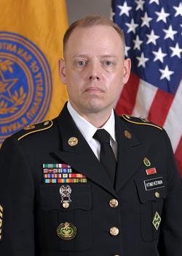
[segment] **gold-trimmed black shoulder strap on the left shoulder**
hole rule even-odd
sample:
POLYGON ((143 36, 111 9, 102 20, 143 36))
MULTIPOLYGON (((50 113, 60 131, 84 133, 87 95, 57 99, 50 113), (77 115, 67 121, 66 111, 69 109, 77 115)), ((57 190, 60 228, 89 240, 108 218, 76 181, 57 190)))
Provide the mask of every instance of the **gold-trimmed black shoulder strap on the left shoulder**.
POLYGON ((20 132, 18 132, 17 140, 23 139, 25 136, 28 136, 34 132, 41 132, 45 129, 50 129, 52 127, 53 121, 43 121, 38 124, 31 124, 22 129, 20 132))

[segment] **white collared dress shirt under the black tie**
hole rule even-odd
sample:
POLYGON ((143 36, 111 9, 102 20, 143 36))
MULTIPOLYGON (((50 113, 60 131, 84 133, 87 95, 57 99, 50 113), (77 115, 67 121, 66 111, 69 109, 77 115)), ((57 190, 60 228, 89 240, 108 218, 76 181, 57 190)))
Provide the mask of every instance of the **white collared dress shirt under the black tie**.
MULTIPOLYGON (((87 140, 87 143, 89 144, 90 148, 92 148, 95 156, 100 160, 100 143, 98 140, 93 138, 93 135, 95 135, 98 128, 94 127, 89 121, 80 116, 79 113, 77 113, 76 110, 71 106, 70 102, 68 102, 67 108, 71 114, 71 117, 74 119, 76 127, 78 127, 85 140, 87 140)), ((110 144, 117 159, 114 110, 111 111, 111 116, 108 118, 108 121, 106 121, 106 124, 104 124, 101 128, 106 129, 106 131, 111 135, 110 144)))

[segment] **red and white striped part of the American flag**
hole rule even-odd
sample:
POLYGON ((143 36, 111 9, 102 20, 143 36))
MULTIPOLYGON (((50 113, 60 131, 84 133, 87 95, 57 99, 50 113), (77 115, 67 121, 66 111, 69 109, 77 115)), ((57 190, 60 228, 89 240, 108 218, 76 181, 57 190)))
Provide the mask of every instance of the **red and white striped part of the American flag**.
POLYGON ((182 80, 178 91, 169 94, 132 73, 122 89, 116 112, 143 116, 164 127, 170 137, 178 169, 182 176, 182 80))

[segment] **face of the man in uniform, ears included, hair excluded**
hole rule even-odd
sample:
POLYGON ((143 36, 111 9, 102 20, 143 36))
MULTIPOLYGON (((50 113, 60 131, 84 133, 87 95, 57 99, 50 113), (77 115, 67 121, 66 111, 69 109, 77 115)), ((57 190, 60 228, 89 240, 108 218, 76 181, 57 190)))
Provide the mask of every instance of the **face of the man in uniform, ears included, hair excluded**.
POLYGON ((81 116, 111 113, 130 75, 122 39, 110 26, 74 29, 59 64, 71 105, 81 116))

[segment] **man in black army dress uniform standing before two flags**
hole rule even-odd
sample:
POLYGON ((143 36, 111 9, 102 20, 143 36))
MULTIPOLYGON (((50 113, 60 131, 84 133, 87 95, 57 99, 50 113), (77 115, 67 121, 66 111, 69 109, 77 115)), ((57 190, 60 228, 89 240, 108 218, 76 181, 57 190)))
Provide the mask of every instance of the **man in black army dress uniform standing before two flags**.
POLYGON ((113 110, 130 75, 122 31, 102 17, 76 21, 59 70, 69 97, 60 116, 1 148, 1 255, 181 256, 167 134, 113 110))

